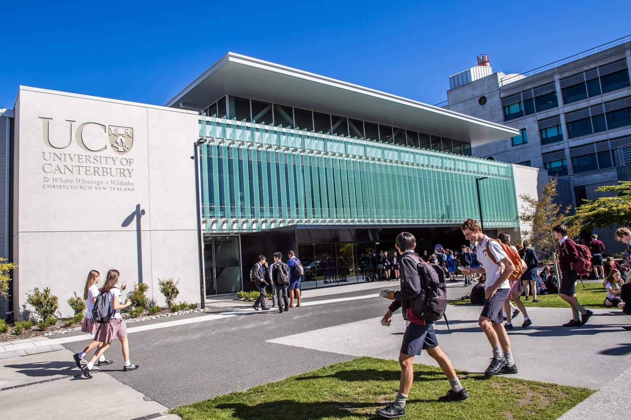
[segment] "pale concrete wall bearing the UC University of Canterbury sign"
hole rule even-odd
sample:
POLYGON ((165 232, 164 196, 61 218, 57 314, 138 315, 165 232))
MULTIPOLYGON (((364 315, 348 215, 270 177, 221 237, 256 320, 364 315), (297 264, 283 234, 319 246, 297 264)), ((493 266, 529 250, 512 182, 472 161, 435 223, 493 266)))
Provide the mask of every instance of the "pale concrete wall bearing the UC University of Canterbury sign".
POLYGON ((174 108, 21 86, 13 184, 16 312, 27 291, 48 286, 62 315, 70 315, 66 301, 74 291, 82 295, 90 269, 100 271, 102 283, 112 268, 129 289, 143 281, 161 304, 158 278, 179 278, 178 299, 199 302, 190 158, 197 120, 174 108), (119 138, 112 128, 132 129, 133 136, 123 137, 131 144, 126 153, 112 147, 119 138))

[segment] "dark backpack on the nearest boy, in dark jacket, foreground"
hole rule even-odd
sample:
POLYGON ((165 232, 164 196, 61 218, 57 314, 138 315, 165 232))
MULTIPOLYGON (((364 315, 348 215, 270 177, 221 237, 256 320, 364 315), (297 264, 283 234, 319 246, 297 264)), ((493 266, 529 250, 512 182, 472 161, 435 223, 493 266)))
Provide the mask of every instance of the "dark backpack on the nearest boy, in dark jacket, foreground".
POLYGON ((416 271, 421 281, 421 293, 412 300, 410 308, 426 321, 439 320, 445 316, 447 309, 445 272, 440 265, 429 264, 418 255, 413 258, 416 260, 416 271))

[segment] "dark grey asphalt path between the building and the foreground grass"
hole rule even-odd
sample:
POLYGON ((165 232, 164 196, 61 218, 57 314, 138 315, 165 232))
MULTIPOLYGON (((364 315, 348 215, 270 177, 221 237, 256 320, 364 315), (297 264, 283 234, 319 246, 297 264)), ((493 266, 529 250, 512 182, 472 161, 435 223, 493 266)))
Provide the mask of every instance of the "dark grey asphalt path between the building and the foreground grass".
MULTIPOLYGON (((129 335, 131 362, 140 368, 127 373, 122 371, 121 346, 115 340, 107 352, 114 364, 103 370, 172 408, 350 360, 353 356, 266 341, 380 317, 386 312, 389 301, 377 296, 379 289, 398 289, 396 281, 382 284, 383 288, 351 293, 340 293, 341 288, 336 288, 336 295, 312 299, 309 299, 309 291, 305 292, 305 302, 364 295, 374 295, 374 298, 302 306, 285 313, 278 313, 276 309, 252 310, 251 315, 134 332, 129 335)), ((448 296, 459 298, 469 289, 463 288, 462 283, 449 284, 448 296)), ((401 317, 401 314, 394 316, 401 317)), ((65 346, 76 353, 86 343, 73 342, 65 346)))

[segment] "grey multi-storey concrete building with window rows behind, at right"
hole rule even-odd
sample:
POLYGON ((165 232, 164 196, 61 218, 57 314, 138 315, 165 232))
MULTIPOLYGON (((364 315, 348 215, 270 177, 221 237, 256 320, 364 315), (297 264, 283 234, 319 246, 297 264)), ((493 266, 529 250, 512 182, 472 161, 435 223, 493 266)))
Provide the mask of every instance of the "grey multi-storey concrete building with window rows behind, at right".
MULTIPOLYGON (((602 185, 630 180, 631 37, 525 74, 493 73, 488 55, 450 78, 444 107, 509 125, 519 136, 474 146, 473 156, 545 169, 563 201, 579 206, 602 185), (569 190, 569 191, 568 191, 569 190), (567 194, 569 192, 569 194, 567 194)), ((611 230, 609 252, 621 250, 611 230)))

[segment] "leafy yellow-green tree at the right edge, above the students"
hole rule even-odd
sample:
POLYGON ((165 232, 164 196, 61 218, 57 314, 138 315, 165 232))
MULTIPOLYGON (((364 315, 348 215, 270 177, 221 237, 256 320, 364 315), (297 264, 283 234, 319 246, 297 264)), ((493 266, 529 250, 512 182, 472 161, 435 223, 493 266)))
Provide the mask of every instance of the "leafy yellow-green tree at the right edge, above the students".
POLYGON ((585 230, 631 223, 631 182, 618 181, 618 185, 605 185, 596 191, 616 192, 618 195, 579 203, 574 216, 567 218, 570 223, 578 222, 585 230))

